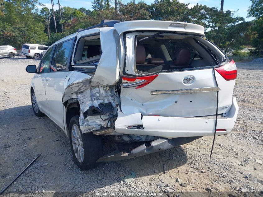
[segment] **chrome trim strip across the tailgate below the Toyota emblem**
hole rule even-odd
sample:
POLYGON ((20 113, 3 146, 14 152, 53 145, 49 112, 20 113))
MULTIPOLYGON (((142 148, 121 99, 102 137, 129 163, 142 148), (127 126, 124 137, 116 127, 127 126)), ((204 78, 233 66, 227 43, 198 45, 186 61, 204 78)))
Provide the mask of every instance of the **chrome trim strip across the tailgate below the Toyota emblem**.
POLYGON ((182 90, 155 90, 155 91, 151 91, 151 95, 210 92, 210 91, 219 91, 219 90, 220 90, 219 87, 201 87, 201 88, 182 89, 182 90))

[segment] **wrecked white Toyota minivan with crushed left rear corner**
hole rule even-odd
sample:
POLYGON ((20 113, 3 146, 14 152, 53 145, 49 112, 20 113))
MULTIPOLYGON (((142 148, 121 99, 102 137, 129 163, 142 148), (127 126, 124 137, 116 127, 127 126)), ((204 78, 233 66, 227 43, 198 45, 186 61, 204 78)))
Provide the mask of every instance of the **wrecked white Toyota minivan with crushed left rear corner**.
POLYGON ((63 129, 82 170, 228 134, 237 118, 236 65, 200 25, 104 20, 26 71, 35 115, 63 129), (104 155, 103 138, 116 150, 104 155))

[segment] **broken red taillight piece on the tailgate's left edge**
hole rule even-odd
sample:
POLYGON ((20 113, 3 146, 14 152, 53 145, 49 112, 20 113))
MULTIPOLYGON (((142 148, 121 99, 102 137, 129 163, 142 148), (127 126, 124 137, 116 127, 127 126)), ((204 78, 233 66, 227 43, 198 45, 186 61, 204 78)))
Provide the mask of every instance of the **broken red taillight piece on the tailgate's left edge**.
POLYGON ((152 82, 157 75, 145 76, 145 77, 121 77, 123 87, 136 87, 135 89, 139 89, 141 87, 146 86, 150 82, 152 82))

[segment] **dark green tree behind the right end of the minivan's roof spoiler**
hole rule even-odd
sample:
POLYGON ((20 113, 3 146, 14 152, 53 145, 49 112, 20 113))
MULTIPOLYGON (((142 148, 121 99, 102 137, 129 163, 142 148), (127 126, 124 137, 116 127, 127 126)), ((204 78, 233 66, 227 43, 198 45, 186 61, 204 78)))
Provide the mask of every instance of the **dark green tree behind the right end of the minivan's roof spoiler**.
POLYGON ((205 27, 206 36, 225 53, 242 49, 242 35, 251 23, 244 22, 243 17, 235 16, 230 10, 221 12, 217 7, 195 5, 190 9, 191 22, 205 27), (240 24, 237 24, 242 22, 240 24))

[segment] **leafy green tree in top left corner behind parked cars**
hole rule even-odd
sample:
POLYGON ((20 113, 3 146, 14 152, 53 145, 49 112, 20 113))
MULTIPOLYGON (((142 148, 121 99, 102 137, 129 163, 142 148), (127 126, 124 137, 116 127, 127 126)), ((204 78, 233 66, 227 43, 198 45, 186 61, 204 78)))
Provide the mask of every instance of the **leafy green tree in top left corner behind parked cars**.
POLYGON ((0 45, 13 45, 16 48, 26 43, 44 44, 47 35, 45 26, 37 12, 37 0, 8 0, 0 17, 0 45))

